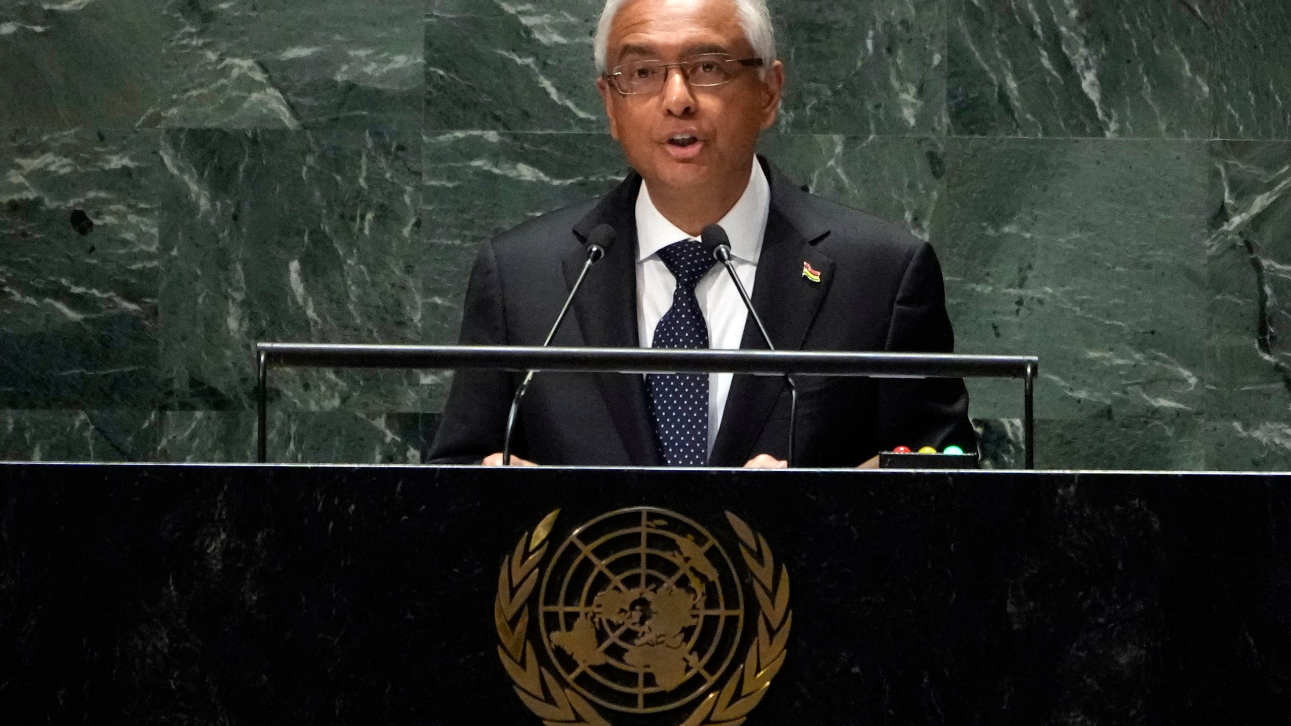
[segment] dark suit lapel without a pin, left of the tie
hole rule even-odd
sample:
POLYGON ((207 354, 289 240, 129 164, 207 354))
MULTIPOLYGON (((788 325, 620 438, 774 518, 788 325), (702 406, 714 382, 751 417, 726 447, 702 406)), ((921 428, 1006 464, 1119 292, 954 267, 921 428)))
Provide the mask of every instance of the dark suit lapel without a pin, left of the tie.
MULTIPOLYGON (((584 242, 599 225, 618 233, 605 257, 587 273, 573 301, 573 313, 586 345, 593 347, 638 347, 636 335, 636 192, 635 173, 605 196, 573 229, 584 242)), ((562 261, 567 289, 582 271, 586 251, 580 245, 562 261)), ((646 407, 646 386, 638 375, 599 373, 596 382, 609 407, 618 437, 634 465, 658 464, 658 451, 646 407)))

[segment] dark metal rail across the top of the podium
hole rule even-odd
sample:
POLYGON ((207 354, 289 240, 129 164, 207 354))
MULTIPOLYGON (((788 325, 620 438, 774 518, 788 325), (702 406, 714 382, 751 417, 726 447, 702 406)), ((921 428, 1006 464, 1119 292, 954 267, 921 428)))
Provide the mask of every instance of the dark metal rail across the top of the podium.
POLYGON ((1022 379, 1026 468, 1035 468, 1034 399, 1039 358, 1034 355, 258 342, 256 363, 259 377, 256 459, 259 462, 267 457, 270 368, 492 368, 518 372, 1022 379))

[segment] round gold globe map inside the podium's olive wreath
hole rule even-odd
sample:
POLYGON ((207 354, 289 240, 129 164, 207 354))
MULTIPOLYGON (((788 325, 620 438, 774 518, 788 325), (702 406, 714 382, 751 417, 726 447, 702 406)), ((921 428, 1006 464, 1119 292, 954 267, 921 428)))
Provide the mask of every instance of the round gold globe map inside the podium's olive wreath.
POLYGON ((565 681, 625 713, 704 694, 744 633, 744 593, 722 544, 693 521, 647 506, 574 530, 544 575, 538 608, 565 681))

